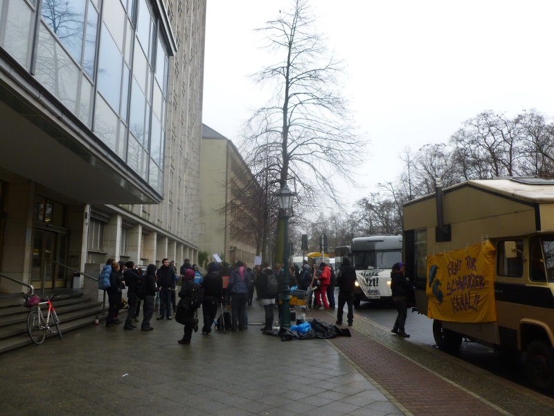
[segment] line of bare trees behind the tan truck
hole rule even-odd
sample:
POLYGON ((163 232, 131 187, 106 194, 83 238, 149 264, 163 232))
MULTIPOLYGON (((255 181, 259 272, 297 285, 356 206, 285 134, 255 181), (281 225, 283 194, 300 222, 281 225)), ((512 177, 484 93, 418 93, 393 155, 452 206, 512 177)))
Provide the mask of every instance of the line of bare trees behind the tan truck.
POLYGON ((328 235, 330 251, 354 236, 402 234, 402 205, 465 180, 501 176, 554 178, 554 121, 535 109, 517 116, 485 111, 465 121, 446 143, 426 144, 417 152, 404 148, 404 166, 395 180, 355 203, 355 211, 320 214, 310 226, 310 248, 328 235))

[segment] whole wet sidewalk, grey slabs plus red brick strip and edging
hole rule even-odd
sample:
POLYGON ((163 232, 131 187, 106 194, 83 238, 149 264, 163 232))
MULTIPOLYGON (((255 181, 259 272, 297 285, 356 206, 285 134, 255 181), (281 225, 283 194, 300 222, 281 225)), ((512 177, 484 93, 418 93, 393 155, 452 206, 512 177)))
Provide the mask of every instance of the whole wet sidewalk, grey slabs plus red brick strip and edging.
POLYGON ((282 342, 260 333, 258 304, 248 311, 249 329, 191 345, 177 344, 182 325, 154 320, 2 354, 2 415, 554 415, 552 399, 358 316, 351 338, 282 342))

